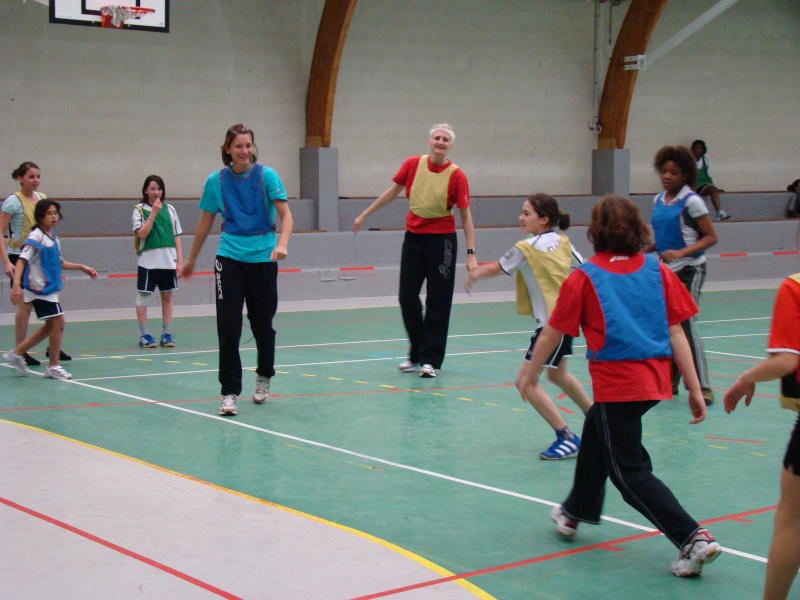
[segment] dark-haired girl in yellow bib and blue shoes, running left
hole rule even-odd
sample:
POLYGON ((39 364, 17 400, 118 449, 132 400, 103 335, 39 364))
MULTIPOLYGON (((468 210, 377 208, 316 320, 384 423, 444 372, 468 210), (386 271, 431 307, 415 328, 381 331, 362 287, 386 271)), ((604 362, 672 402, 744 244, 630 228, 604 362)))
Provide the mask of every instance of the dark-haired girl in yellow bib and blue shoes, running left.
MULTIPOLYGON (((466 290, 483 277, 505 273, 516 273, 517 312, 532 315, 536 320, 536 331, 522 360, 514 385, 523 401, 527 402, 553 428, 556 440, 547 450, 539 453, 542 460, 575 458, 581 447, 580 438, 567 426, 561 413, 541 386, 531 382, 531 354, 542 328, 547 324, 558 299, 561 284, 573 267, 583 262, 583 257, 573 248, 562 231, 569 228, 569 215, 558 210, 555 198, 547 194, 533 194, 522 204, 519 216, 520 228, 529 236, 517 242, 497 262, 481 265, 469 275, 466 290), (561 231, 554 231, 557 225, 561 231)), ((564 335, 555 352, 545 363, 550 381, 560 387, 586 414, 592 401, 574 375, 567 372, 566 358, 572 356, 572 337, 564 335)), ((538 373, 537 373, 538 375, 538 373)))

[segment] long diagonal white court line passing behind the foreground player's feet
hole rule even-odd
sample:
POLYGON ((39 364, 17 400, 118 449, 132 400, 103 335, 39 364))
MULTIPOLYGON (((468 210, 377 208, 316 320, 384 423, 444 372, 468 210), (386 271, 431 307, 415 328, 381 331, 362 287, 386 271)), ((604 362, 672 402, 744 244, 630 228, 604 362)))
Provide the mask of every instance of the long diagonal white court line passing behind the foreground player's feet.
MULTIPOLYGON (((153 404, 153 405, 160 406, 160 407, 163 407, 163 408, 169 408, 169 409, 172 409, 172 410, 177 410, 177 411, 180 411, 180 412, 183 412, 183 413, 187 413, 187 414, 190 414, 190 415, 194 415, 194 416, 197 416, 197 417, 202 417, 202 418, 205 418, 205 419, 213 419, 213 420, 215 420, 215 421, 217 421, 219 423, 224 423, 225 425, 234 426, 234 427, 243 427, 245 429, 250 429, 252 431, 257 431, 259 433, 265 433, 267 435, 272 435, 272 436, 275 436, 275 437, 278 437, 278 438, 291 440, 293 442, 298 442, 298 443, 301 443, 301 444, 307 444, 309 446, 314 446, 314 447, 321 448, 321 449, 324 449, 324 450, 330 450, 332 452, 338 452, 340 454, 346 454, 348 456, 353 456, 353 457, 356 457, 356 458, 360 458, 362 460, 367 460, 367 461, 380 463, 380 464, 383 464, 383 465, 387 465, 389 467, 394 467, 396 469, 402 469, 402 470, 405 470, 405 471, 410 471, 412 473, 418 473, 420 475, 425 475, 425 476, 433 477, 433 478, 436 478, 436 479, 442 479, 444 481, 449 481, 449 482, 452 482, 452 483, 458 483, 458 484, 465 485, 465 486, 468 486, 468 487, 473 487, 473 488, 485 490, 485 491, 488 491, 488 492, 494 492, 496 494, 501 494, 501 495, 504 495, 504 496, 510 496, 512 498, 518 498, 520 500, 527 500, 529 502, 535 502, 537 504, 544 504, 546 506, 551 506, 551 507, 552 506, 558 506, 558 504, 559 504, 558 502, 552 502, 550 500, 545 500, 543 498, 537 498, 536 496, 528 496, 527 494, 521 494, 519 492, 512 492, 511 490, 505 490, 503 488, 498 488, 498 487, 494 487, 494 486, 491 486, 491 485, 486 485, 486 484, 483 484, 483 483, 477 483, 475 481, 470 481, 468 479, 461 479, 460 477, 452 477, 450 475, 445 475, 443 473, 438 473, 436 471, 430 471, 428 469, 420 469, 419 467, 413 467, 411 465, 406 465, 406 464, 403 464, 403 463, 398 463, 398 462, 394 462, 394 461, 391 461, 391 460, 378 458, 376 456, 370 456, 369 454, 362 454, 361 452, 355 452, 353 450, 348 450, 346 448, 340 448, 338 446, 332 446, 330 444, 325 444, 325 443, 322 443, 322 442, 317 442, 317 441, 314 441, 314 440, 301 438, 301 437, 298 437, 298 436, 295 436, 295 435, 291 435, 291 434, 288 434, 288 433, 282 433, 280 431, 274 431, 274 430, 271 430, 271 429, 265 429, 263 427, 258 427, 256 425, 250 425, 249 423, 242 423, 241 421, 233 420, 230 417, 221 417, 221 416, 218 416, 218 415, 202 413, 202 412, 198 412, 196 410, 191 410, 189 408, 185 408, 183 406, 176 406, 174 404, 168 404, 168 403, 164 403, 164 402, 159 402, 157 400, 151 400, 149 398, 144 398, 143 396, 136 396, 134 394, 128 394, 126 392, 118 392, 116 390, 110 390, 110 389, 103 388, 103 387, 100 387, 100 386, 90 385, 88 383, 84 383, 82 381, 76 381, 74 379, 73 380, 63 380, 63 381, 64 381, 64 383, 68 383, 68 384, 72 384, 72 385, 79 385, 79 386, 86 387, 86 388, 89 388, 89 389, 93 389, 93 390, 96 390, 96 391, 106 392, 106 393, 109 393, 109 394, 112 394, 112 395, 115 395, 115 396, 122 396, 123 398, 129 398, 129 399, 132 399, 132 400, 138 400, 140 402, 145 402, 147 404, 153 404)), ((647 532, 647 533, 653 533, 653 532, 658 531, 657 529, 655 529, 653 527, 649 527, 649 526, 646 526, 646 525, 640 525, 638 523, 633 523, 631 521, 624 521, 622 519, 617 519, 617 518, 614 518, 614 517, 608 517, 608 516, 605 516, 605 515, 601 515, 600 519, 602 519, 603 521, 607 521, 609 523, 616 523, 617 525, 622 525, 624 527, 629 527, 631 529, 637 529, 639 531, 644 531, 644 532, 647 532)), ((663 535, 663 534, 661 534, 661 535, 663 535)), ((763 557, 760 557, 760 556, 757 556, 757 555, 754 555, 754 554, 749 554, 749 553, 746 553, 746 552, 740 552, 738 550, 732 550, 730 548, 724 548, 724 550, 726 552, 728 552, 729 554, 733 554, 735 556, 740 556, 742 558, 748 558, 748 559, 755 560, 755 561, 758 561, 758 562, 763 562, 763 563, 767 562, 766 558, 763 558, 763 557)))

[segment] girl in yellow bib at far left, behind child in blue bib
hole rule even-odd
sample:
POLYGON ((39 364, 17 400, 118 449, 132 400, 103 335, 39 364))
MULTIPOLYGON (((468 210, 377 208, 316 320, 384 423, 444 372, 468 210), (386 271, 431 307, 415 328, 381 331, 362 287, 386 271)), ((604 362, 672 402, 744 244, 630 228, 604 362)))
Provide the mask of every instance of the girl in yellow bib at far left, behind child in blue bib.
MULTIPOLYGON (((0 234, 0 261, 3 263, 3 271, 13 283, 14 269, 22 250, 22 244, 28 238, 33 226, 36 225, 33 211, 39 200, 43 200, 47 196, 37 191, 39 183, 42 181, 42 172, 36 163, 30 161, 22 163, 11 173, 11 178, 19 183, 19 191, 6 198, 3 208, 0 210, 0 232, 4 233, 8 228, 8 242, 0 234), (8 243, 8 248, 6 248, 6 243, 8 243)), ((15 345, 20 344, 28 333, 28 321, 31 318, 32 306, 24 302, 17 304, 17 311, 14 314, 15 345)), ((46 354, 48 357, 50 356, 49 348, 46 354)), ((22 358, 29 367, 38 367, 41 364, 27 352, 22 358)), ((71 360, 71 358, 63 350, 59 352, 59 360, 71 360)))

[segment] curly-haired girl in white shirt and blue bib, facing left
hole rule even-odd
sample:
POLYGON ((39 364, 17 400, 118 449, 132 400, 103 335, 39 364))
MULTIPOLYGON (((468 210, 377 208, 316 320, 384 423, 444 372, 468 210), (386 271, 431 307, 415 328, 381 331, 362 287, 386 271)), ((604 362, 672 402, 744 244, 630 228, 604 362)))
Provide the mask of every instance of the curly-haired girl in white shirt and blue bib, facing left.
MULTIPOLYGON (((661 262, 673 271, 692 295, 700 302, 706 280, 705 251, 717 243, 717 233, 708 214, 706 203, 692 191, 697 167, 689 150, 683 146, 664 146, 653 161, 661 177, 664 191, 653 199, 652 225, 655 242, 645 252, 657 252, 661 262)), ((703 388, 706 404, 714 401, 714 391, 708 375, 706 352, 695 318, 681 323, 692 349, 695 370, 703 388)), ((672 370, 672 393, 678 393, 680 373, 672 370)))

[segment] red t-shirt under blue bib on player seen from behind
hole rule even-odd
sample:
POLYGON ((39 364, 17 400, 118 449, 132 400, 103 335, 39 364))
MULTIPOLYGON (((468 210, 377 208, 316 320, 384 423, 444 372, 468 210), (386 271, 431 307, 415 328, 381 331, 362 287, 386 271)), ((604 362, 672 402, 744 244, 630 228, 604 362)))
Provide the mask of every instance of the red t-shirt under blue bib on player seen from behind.
MULTIPOLYGON (((644 264, 644 255, 614 256, 600 252, 591 259, 612 273, 633 273, 644 264)), ((692 296, 678 277, 664 265, 661 281, 667 321, 670 326, 698 312, 692 296)), ((548 323, 562 333, 577 337, 583 329, 589 350, 600 350, 605 343, 605 319, 600 300, 589 276, 576 269, 561 285, 558 302, 548 323)), ((669 358, 646 360, 589 361, 595 402, 634 402, 672 398, 672 361, 669 358)))

